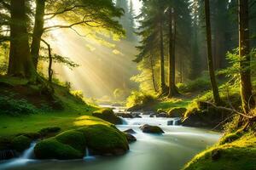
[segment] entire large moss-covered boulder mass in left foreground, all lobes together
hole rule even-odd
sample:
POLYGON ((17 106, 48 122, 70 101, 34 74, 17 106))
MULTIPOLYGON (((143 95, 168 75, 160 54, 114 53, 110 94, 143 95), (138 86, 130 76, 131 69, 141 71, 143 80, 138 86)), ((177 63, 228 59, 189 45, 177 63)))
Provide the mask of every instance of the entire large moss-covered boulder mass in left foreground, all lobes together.
POLYGON ((94 155, 120 155, 129 150, 125 133, 111 125, 90 125, 44 139, 35 146, 38 159, 81 159, 86 148, 94 155))

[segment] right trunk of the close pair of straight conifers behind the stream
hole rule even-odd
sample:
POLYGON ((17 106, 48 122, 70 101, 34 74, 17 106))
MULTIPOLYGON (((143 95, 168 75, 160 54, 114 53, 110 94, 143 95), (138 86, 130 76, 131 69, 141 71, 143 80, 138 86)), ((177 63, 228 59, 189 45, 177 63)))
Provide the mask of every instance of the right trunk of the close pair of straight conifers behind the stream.
POLYGON ((174 9, 169 10, 169 94, 168 97, 172 98, 177 94, 175 86, 175 20, 174 9))

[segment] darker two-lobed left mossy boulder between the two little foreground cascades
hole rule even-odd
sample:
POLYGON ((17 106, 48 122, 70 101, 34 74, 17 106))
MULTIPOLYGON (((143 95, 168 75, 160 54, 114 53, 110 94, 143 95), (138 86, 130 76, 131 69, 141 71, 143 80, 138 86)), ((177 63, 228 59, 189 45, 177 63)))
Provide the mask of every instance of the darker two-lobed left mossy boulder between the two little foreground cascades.
POLYGON ((34 153, 38 159, 79 159, 84 156, 85 141, 84 133, 76 130, 66 131, 38 142, 34 153))

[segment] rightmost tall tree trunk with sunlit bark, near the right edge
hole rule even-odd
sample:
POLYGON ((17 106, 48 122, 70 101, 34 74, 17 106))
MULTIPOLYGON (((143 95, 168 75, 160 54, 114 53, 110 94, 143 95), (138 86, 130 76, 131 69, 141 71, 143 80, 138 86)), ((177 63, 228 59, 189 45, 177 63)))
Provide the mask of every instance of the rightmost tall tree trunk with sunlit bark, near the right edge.
POLYGON ((239 56, 241 77, 241 101, 244 112, 255 105, 252 93, 250 62, 250 39, 249 39, 249 14, 248 0, 238 0, 239 3, 239 56))

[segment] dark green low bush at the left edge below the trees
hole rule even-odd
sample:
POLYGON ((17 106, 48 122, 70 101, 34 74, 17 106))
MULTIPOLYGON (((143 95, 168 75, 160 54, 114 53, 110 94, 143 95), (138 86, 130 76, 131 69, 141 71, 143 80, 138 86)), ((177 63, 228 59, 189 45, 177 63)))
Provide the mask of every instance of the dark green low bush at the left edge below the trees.
POLYGON ((0 114, 11 116, 33 114, 37 112, 37 108, 29 104, 26 99, 13 99, 8 96, 0 97, 0 114))

